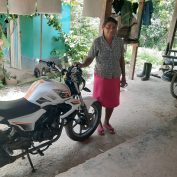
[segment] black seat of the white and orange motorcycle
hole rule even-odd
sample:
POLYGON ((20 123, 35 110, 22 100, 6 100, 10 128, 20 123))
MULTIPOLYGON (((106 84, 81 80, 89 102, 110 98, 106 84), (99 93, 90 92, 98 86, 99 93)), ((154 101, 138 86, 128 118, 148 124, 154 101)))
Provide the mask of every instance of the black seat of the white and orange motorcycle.
POLYGON ((11 101, 0 101, 0 116, 5 119, 14 119, 38 111, 40 106, 35 105, 25 98, 11 101))

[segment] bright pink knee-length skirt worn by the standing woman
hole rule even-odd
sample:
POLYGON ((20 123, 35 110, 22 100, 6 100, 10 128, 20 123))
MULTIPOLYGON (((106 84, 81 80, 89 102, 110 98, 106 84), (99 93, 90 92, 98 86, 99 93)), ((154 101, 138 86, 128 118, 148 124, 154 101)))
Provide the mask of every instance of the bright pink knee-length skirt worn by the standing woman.
POLYGON ((106 79, 94 73, 93 97, 102 106, 114 108, 119 105, 120 78, 106 79))

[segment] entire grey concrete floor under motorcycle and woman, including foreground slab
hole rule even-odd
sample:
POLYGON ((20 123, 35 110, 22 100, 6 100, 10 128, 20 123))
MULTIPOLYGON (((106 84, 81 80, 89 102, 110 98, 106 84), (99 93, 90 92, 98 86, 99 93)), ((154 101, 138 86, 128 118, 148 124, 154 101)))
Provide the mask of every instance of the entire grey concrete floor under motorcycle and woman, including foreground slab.
POLYGON ((63 132, 44 157, 32 157, 36 173, 19 159, 1 168, 1 176, 176 177, 177 100, 170 95, 170 83, 151 77, 128 84, 111 119, 115 135, 95 132, 79 143, 63 132))

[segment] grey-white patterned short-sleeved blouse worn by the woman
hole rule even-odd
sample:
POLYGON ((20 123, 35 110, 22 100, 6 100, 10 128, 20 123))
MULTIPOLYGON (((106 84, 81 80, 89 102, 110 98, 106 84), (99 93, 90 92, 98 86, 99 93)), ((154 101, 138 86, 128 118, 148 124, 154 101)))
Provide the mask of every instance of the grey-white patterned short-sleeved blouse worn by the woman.
POLYGON ((123 39, 114 36, 111 46, 104 36, 96 38, 88 53, 89 58, 96 58, 94 71, 104 78, 120 77, 120 59, 123 57, 123 39))

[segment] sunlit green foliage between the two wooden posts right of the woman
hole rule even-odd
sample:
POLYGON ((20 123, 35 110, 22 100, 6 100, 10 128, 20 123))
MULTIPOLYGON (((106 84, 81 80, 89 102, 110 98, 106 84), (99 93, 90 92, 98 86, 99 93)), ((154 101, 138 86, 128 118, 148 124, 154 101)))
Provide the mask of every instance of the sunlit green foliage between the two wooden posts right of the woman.
POLYGON ((141 47, 166 48, 166 40, 171 17, 174 11, 174 2, 171 1, 153 1, 154 12, 152 14, 150 26, 142 26, 140 45, 141 47))

